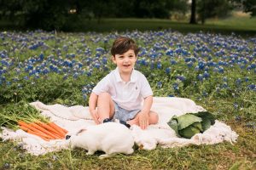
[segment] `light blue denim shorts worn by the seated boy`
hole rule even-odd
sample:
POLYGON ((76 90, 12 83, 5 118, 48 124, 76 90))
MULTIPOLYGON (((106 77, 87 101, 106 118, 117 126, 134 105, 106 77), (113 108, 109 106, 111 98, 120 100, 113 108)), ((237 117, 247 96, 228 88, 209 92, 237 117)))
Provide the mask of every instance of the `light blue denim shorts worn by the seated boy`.
POLYGON ((141 110, 134 110, 134 111, 127 111, 121 107, 119 107, 118 104, 114 103, 114 115, 113 115, 113 119, 119 119, 119 121, 129 121, 131 119, 133 119, 135 116, 137 116, 138 112, 140 112, 141 110))

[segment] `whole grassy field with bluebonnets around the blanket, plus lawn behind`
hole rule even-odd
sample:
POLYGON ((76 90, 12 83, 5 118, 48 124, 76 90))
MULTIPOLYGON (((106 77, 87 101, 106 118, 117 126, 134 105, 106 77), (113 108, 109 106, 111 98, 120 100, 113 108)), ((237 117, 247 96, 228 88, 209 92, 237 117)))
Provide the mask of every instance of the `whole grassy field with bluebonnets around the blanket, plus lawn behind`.
POLYGON ((113 69, 109 60, 103 62, 109 59, 113 39, 123 35, 133 37, 142 48, 137 69, 148 78, 155 96, 195 100, 239 134, 236 143, 136 148, 131 156, 100 160, 101 152, 86 156, 81 149, 32 156, 20 144, 0 139, 0 169, 256 169, 255 18, 208 22, 190 26, 168 20, 109 19, 84 27, 103 33, 2 31, 0 125, 17 128, 3 115, 14 120, 25 117, 31 112, 22 105, 35 100, 88 105, 91 88, 113 69), (160 31, 169 28, 177 31, 160 31), (245 37, 230 35, 232 31, 245 37))

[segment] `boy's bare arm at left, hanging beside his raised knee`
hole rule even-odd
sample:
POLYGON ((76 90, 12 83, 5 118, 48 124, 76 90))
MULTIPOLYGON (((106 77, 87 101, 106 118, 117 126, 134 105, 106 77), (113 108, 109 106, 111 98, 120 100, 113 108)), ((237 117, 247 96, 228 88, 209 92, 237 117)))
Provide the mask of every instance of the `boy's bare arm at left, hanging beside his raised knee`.
POLYGON ((90 94, 90 98, 89 98, 89 111, 90 111, 90 115, 92 116, 94 122, 96 122, 96 124, 99 124, 99 116, 98 113, 96 111, 96 104, 97 104, 97 99, 98 96, 94 93, 90 94))

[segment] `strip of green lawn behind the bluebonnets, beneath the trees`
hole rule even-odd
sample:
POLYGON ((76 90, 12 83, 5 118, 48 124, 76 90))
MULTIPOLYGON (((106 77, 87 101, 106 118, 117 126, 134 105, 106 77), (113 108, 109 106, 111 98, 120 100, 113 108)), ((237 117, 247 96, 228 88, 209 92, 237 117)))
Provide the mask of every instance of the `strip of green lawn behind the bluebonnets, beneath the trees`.
MULTIPOLYGON (((0 30, 19 29, 12 26, 9 22, 0 21, 0 30)), ((157 19, 102 19, 102 20, 82 20, 79 22, 69 22, 65 26, 66 31, 157 31, 172 29, 182 33, 205 31, 210 33, 230 34, 235 32, 241 36, 256 35, 256 17, 237 17, 232 16, 226 19, 209 19, 205 25, 190 25, 189 21, 172 21, 157 19)))

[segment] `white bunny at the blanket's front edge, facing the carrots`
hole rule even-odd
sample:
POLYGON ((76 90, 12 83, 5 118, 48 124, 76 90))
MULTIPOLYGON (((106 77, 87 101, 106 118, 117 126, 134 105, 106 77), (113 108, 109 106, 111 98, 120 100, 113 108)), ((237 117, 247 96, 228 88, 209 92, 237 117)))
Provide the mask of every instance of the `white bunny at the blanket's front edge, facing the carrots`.
POLYGON ((79 133, 71 135, 72 148, 80 147, 88 150, 87 155, 93 155, 96 150, 105 154, 100 158, 116 153, 132 154, 134 139, 131 131, 118 122, 106 122, 96 126, 81 129, 79 133))

